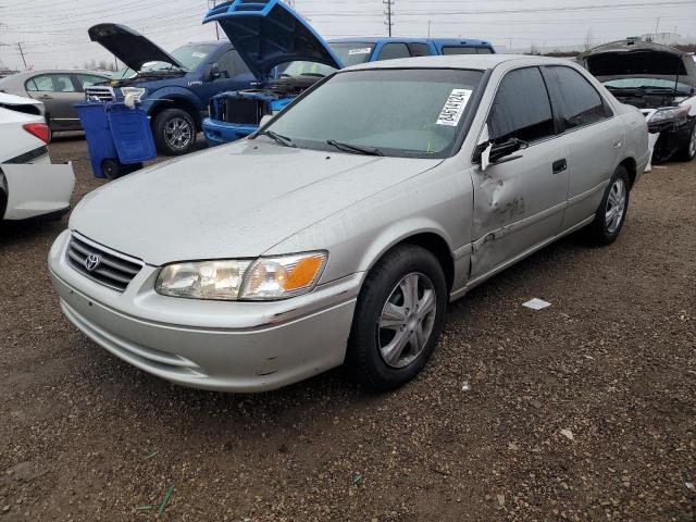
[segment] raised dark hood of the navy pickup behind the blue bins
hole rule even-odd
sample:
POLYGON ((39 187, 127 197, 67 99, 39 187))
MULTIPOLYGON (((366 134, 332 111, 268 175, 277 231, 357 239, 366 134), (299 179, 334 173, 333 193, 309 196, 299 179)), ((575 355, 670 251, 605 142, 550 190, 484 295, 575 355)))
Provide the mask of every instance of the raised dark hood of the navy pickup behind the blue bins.
POLYGON ((90 27, 89 39, 104 47, 133 71, 140 71, 148 62, 164 62, 185 69, 174 57, 130 27, 120 24, 99 24, 90 27))

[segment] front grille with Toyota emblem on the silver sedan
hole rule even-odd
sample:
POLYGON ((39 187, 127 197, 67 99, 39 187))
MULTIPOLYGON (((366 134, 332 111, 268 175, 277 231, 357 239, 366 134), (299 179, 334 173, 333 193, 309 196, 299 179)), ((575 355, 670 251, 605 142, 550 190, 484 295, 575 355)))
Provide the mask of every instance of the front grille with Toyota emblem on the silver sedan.
POLYGON ((77 234, 72 235, 65 257, 77 272, 117 291, 124 291, 144 265, 138 259, 102 247, 77 234))

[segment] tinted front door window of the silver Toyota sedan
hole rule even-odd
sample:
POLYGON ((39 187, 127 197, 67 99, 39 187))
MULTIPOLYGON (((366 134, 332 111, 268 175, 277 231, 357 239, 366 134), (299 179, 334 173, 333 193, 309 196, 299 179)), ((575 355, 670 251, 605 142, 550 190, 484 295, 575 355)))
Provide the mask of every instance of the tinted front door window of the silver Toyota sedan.
POLYGON ((537 67, 508 73, 498 87, 488 115, 494 142, 510 138, 538 141, 554 135, 554 116, 546 84, 537 67))

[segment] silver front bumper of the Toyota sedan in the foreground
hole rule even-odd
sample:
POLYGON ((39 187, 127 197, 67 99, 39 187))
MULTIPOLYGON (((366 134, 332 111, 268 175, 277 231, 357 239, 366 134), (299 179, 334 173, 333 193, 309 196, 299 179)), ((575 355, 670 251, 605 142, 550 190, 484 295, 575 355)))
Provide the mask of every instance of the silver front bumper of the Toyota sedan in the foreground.
POLYGON ((360 276, 286 301, 222 302, 160 296, 159 269, 146 265, 124 293, 65 261, 70 232, 49 253, 66 318, 124 361, 170 382, 252 393, 279 388, 340 365, 360 276))

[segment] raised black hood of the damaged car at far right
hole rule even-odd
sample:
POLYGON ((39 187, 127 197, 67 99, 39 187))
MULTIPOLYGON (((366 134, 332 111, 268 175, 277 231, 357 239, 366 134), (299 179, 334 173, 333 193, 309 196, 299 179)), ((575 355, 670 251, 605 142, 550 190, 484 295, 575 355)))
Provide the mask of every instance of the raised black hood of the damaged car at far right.
POLYGON ((679 74, 680 82, 696 83, 696 66, 686 52, 647 41, 606 44, 580 54, 577 62, 601 82, 631 77, 674 79, 679 74))

